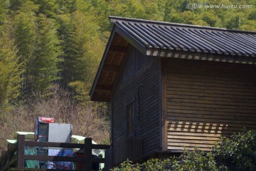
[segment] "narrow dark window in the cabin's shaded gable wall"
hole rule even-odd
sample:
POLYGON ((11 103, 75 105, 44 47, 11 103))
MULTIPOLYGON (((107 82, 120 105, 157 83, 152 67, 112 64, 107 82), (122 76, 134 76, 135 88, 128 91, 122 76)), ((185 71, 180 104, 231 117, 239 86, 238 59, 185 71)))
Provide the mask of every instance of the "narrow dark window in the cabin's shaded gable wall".
POLYGON ((127 136, 134 135, 134 103, 127 105, 127 136))

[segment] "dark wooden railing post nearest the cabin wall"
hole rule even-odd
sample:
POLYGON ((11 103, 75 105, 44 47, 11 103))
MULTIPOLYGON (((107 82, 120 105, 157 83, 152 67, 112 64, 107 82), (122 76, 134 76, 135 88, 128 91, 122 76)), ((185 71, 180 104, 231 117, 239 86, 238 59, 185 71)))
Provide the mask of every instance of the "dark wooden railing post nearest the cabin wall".
POLYGON ((85 138, 85 165, 84 170, 92 170, 92 138, 85 138))

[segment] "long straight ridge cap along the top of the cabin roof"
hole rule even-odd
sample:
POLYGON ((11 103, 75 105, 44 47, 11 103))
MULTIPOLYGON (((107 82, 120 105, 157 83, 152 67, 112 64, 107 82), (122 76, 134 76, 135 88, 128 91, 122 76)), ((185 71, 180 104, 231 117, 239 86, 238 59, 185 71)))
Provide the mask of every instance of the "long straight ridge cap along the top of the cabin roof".
POLYGON ((171 23, 167 21, 154 21, 154 20, 146 20, 146 19, 134 19, 128 17, 121 17, 121 16, 109 16, 110 22, 115 24, 117 21, 132 21, 132 22, 141 22, 141 23, 148 23, 148 24, 161 24, 161 25, 168 25, 168 26, 181 26, 187 28, 203 28, 208 30, 215 30, 215 31, 229 31, 235 33, 253 33, 256 34, 255 31, 242 31, 242 30, 233 30, 228 28, 219 28, 219 27, 211 27, 211 26, 198 26, 192 24, 178 24, 178 23, 171 23))

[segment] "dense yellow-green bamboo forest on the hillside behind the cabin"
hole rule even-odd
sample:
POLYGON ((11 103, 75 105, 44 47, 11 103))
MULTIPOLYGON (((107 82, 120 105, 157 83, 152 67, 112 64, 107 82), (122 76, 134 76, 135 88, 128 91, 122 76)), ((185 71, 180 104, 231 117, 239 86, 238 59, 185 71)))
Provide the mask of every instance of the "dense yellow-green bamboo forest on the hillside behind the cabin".
POLYGON ((11 28, 12 47, 16 48, 20 65, 20 90, 15 97, 23 101, 37 91, 47 96, 53 84, 58 83, 73 90, 75 98, 88 100, 111 31, 109 15, 256 30, 255 1, 205 1, 200 8, 190 8, 191 4, 200 3, 192 0, 1 0, 0 31, 6 26, 11 28), (236 5, 236 8, 222 5, 236 5))

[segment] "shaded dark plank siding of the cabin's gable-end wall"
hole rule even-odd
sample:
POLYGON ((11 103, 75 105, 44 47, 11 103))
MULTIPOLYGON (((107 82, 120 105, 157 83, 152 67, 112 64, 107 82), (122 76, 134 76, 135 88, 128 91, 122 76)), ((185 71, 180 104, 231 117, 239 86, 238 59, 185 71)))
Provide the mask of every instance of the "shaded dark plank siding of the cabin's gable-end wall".
POLYGON ((161 145, 160 66, 160 58, 144 56, 131 47, 112 91, 112 140, 127 136, 126 108, 134 102, 134 136, 142 138, 142 155, 159 150, 161 145))

